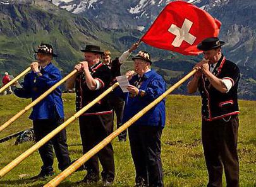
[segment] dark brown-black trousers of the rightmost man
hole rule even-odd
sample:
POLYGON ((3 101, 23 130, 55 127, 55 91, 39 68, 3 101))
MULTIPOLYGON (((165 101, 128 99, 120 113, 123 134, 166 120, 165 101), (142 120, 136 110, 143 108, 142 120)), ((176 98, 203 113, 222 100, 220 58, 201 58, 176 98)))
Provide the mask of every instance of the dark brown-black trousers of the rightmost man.
POLYGON ((207 187, 222 186, 223 167, 227 186, 239 186, 238 123, 237 115, 212 122, 202 120, 202 142, 209 173, 207 187))

